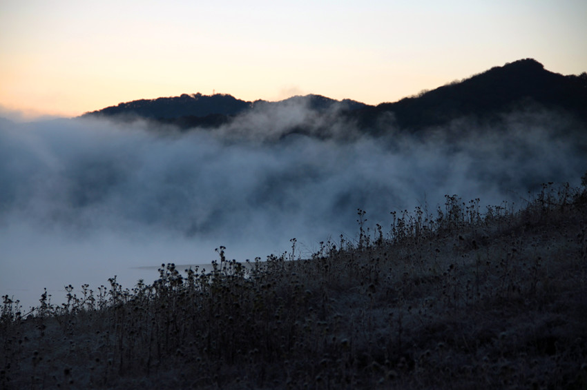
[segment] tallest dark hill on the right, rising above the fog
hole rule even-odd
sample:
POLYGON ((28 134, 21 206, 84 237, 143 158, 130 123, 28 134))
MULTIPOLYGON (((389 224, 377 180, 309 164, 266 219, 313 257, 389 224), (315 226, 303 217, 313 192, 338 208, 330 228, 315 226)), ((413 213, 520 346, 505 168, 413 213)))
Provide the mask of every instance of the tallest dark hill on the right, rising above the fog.
POLYGON ((358 118, 368 126, 381 114, 393 112, 399 127, 421 129, 461 116, 487 118, 532 104, 587 121, 587 74, 563 76, 545 70, 534 59, 523 59, 419 96, 367 107, 358 118))

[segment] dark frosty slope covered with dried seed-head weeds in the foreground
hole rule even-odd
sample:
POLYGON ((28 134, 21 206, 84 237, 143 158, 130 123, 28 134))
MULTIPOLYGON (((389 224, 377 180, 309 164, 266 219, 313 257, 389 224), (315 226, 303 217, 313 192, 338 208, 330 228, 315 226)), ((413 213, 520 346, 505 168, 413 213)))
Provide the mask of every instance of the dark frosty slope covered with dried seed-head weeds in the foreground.
POLYGON ((152 285, 3 297, 0 388, 585 389, 587 192, 447 196, 311 258, 163 265, 152 285), (387 231, 387 232, 386 232, 387 231))

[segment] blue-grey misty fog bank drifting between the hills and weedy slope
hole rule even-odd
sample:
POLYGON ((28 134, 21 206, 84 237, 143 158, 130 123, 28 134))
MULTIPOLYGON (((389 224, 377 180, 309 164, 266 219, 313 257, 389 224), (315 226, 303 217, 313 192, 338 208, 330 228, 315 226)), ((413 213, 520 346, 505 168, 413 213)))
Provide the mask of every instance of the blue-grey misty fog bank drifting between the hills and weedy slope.
MULTIPOLYGON (((389 121, 393 123, 393 121, 389 121)), ((336 110, 300 103, 244 114, 218 130, 81 119, 0 121, 0 293, 34 305, 118 276, 126 287, 156 271, 237 260, 356 237, 389 212, 443 203, 521 202, 548 181, 576 185, 586 170, 577 125, 552 112, 461 119, 418 136, 360 136, 336 110), (294 127, 306 134, 287 135, 294 127), (579 138, 577 138, 579 137, 579 138)), ((404 135, 399 135, 404 134, 404 135)))

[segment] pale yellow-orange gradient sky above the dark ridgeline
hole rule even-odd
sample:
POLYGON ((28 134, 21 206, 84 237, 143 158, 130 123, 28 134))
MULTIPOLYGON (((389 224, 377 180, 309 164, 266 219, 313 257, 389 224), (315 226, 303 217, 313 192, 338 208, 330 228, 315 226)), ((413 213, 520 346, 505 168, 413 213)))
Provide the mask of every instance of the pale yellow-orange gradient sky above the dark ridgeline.
POLYGON ((534 58, 587 70, 587 1, 0 0, 0 116, 227 93, 396 101, 534 58))

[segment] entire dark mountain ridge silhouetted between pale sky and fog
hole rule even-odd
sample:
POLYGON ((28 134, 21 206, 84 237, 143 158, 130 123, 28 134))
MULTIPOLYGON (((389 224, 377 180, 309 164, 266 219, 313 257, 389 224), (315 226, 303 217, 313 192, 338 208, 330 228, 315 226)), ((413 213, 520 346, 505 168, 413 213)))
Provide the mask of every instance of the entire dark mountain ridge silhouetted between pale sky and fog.
MULTIPOLYGON (((218 127, 249 110, 271 110, 289 104, 305 105, 317 114, 331 112, 336 107, 344 119, 370 134, 385 134, 390 119, 400 130, 417 132, 468 116, 492 120, 497 114, 528 107, 566 112, 587 123, 587 74, 564 76, 545 70, 534 59, 522 59, 418 96, 376 106, 349 99, 336 101, 316 94, 278 102, 249 102, 229 94, 198 93, 119 103, 84 116, 141 117, 186 130, 218 127)), ((304 130, 298 128, 296 132, 304 133, 304 130)))

